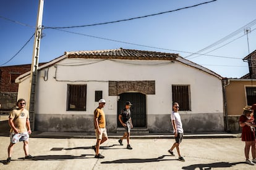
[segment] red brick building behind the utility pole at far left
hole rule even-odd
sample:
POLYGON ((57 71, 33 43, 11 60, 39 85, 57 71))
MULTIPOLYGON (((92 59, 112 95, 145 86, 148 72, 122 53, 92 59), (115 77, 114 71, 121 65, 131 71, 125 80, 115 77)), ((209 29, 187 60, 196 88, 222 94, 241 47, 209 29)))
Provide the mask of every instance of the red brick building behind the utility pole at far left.
POLYGON ((0 114, 9 114, 15 107, 19 87, 15 79, 30 68, 30 64, 0 67, 0 114))

